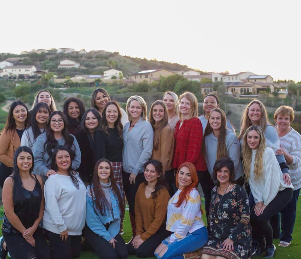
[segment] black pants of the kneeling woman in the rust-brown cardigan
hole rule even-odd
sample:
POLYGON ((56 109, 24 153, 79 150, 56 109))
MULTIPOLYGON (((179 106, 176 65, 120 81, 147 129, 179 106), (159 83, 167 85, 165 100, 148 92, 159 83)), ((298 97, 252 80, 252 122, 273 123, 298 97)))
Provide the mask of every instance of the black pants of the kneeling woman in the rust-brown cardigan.
POLYGON ((163 224, 153 236, 146 239, 137 249, 133 247, 132 243, 127 244, 129 254, 135 254, 142 258, 152 257, 156 248, 171 234, 172 232, 166 230, 166 225, 163 224))

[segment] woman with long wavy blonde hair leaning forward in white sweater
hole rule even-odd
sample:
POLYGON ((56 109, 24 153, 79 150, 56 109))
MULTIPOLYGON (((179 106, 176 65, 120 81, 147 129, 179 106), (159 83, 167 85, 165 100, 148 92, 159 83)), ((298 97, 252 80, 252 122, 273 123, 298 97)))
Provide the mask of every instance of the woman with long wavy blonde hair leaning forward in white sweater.
POLYGON ((252 255, 260 254, 264 249, 264 237, 265 258, 271 258, 276 247, 268 220, 289 203, 293 197, 293 186, 284 183, 275 153, 266 146, 264 132, 259 126, 250 126, 243 140, 244 173, 253 194, 253 199, 249 199, 253 239, 260 242, 252 255))

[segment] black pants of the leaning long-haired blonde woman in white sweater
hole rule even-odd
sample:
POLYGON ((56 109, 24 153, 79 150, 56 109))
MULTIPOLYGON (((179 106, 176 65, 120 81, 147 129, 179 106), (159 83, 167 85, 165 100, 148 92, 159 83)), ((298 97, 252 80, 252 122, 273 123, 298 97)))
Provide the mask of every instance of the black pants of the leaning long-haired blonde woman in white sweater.
POLYGON ((266 206, 261 215, 256 216, 254 211, 255 202, 253 195, 250 195, 249 204, 250 208, 252 208, 250 211, 250 221, 252 226, 253 239, 260 241, 263 239, 263 237, 265 237, 266 245, 272 245, 273 230, 268 221, 272 216, 285 208, 292 197, 293 190, 290 188, 285 188, 283 191, 278 192, 276 197, 268 204, 268 206, 266 206))

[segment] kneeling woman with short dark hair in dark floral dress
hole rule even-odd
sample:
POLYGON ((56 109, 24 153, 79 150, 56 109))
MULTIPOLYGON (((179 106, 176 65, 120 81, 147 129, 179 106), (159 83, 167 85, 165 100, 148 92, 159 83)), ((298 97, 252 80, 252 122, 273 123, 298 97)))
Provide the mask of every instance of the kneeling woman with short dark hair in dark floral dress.
POLYGON ((209 213, 210 235, 202 259, 250 258, 250 208, 245 190, 234 184, 234 163, 225 157, 216 160, 209 213))

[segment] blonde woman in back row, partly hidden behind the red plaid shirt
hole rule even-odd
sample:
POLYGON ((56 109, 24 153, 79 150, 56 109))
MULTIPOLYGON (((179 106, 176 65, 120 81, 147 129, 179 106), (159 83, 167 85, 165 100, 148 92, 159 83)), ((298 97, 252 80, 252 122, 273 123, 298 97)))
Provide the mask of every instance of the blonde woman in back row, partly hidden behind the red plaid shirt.
POLYGON ((180 120, 178 95, 174 92, 167 91, 163 96, 163 101, 165 102, 168 110, 168 124, 172 129, 172 132, 175 132, 175 125, 180 120))

